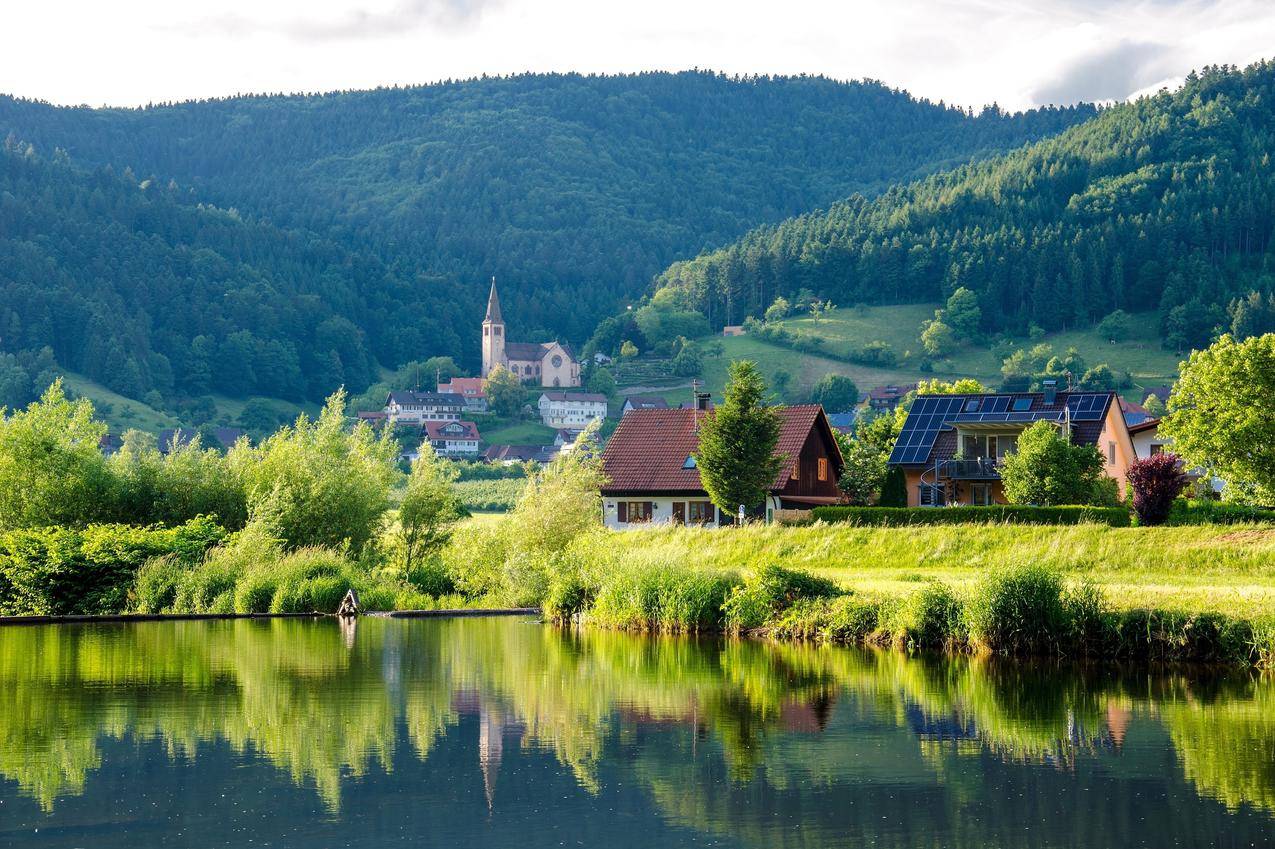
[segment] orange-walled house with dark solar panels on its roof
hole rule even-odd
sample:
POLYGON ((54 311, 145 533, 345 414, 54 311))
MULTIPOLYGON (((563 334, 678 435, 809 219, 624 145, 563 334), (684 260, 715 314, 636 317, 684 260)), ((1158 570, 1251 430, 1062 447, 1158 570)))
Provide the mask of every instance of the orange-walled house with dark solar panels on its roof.
POLYGON ((1051 422, 1076 445, 1095 445, 1107 475, 1125 495, 1125 472, 1137 455, 1116 393, 919 395, 908 410, 890 465, 908 477, 909 507, 1005 504, 1001 461, 1019 435, 1051 422))

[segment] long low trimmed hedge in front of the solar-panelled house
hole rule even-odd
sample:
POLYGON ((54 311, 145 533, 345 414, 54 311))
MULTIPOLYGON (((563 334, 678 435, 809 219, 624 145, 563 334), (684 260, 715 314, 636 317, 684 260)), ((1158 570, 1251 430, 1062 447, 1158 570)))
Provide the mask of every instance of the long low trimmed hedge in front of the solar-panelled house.
POLYGON ((992 507, 815 507, 813 518, 821 521, 847 521, 856 525, 1080 525, 1099 524, 1112 528, 1130 525, 1125 507, 1031 507, 996 505, 992 507))

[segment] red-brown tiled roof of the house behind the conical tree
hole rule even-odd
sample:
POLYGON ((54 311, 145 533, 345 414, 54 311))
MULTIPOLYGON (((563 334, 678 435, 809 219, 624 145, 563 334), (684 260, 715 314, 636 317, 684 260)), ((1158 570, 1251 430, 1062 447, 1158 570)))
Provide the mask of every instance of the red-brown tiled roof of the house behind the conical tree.
MULTIPOLYGON (((822 416, 817 404, 779 408, 782 426, 775 454, 785 460, 771 490, 782 490, 792 477, 811 428, 822 416)), ((711 413, 699 413, 710 416, 711 413)), ((703 492, 700 472, 683 468, 699 447, 692 409, 635 409, 620 419, 602 453, 602 469, 609 483, 603 492, 703 492)))

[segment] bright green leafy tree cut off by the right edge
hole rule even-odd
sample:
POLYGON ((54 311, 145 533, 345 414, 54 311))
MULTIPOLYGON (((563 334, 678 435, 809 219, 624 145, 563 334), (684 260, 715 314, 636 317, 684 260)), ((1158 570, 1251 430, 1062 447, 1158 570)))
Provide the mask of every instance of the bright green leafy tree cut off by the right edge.
POLYGON ((1275 333, 1192 352, 1159 433, 1187 465, 1227 481, 1228 496, 1275 505, 1275 333))

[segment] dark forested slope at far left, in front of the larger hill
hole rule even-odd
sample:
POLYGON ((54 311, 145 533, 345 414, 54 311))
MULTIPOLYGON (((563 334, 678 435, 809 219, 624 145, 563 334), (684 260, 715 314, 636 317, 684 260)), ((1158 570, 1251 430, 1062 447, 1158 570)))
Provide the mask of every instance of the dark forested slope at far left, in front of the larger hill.
POLYGON ((371 282, 395 291, 375 258, 172 184, 0 149, 0 405, 43 389, 45 348, 133 398, 300 400, 366 385, 376 363, 360 289, 371 282))

